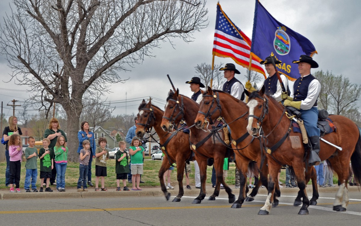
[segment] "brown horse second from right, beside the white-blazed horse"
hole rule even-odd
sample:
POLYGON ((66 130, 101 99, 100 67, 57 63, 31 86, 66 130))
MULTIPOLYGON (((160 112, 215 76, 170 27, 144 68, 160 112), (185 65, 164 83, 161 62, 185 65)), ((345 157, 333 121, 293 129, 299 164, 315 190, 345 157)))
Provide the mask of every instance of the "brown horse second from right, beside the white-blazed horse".
MULTIPOLYGON (((248 122, 245 120, 245 116, 248 112, 248 108, 243 101, 239 101, 239 99, 232 97, 230 94, 225 93, 220 90, 212 90, 208 87, 206 93, 203 94, 203 101, 201 102, 199 112, 197 118, 195 119, 195 124, 197 128, 205 129, 208 125, 209 121, 214 121, 217 118, 222 118, 229 123, 229 127, 231 129, 231 136, 234 138, 234 142, 236 145, 232 143, 232 148, 235 149, 235 154, 238 156, 240 160, 236 161, 238 168, 240 170, 240 181, 241 181, 241 189, 238 200, 235 202, 239 206, 242 205, 245 198, 245 179, 247 178, 247 166, 250 160, 256 160, 258 169, 260 169, 262 162, 262 155, 260 150, 260 143, 258 139, 254 140, 251 136, 248 136, 247 132, 247 124, 248 122), (242 117, 240 117, 242 116, 242 117), (246 136, 245 136, 246 135, 246 136), (245 137, 242 139, 236 139, 238 137, 245 137)), ((262 166, 262 171, 260 172, 260 181, 257 186, 252 190, 250 196, 245 199, 245 201, 253 201, 253 197, 257 195, 258 187, 262 184, 266 188, 268 188, 268 167, 267 167, 267 159, 264 159, 264 164, 262 166)), ((312 205, 317 204, 318 199, 318 190, 317 190, 317 182, 316 182, 316 170, 313 169, 313 197, 311 199, 312 205)), ((310 174, 307 175, 308 177, 310 174)), ((273 199, 273 207, 278 205, 278 200, 276 196, 280 196, 279 184, 275 184, 275 196, 273 199)), ((294 205, 301 204, 301 197, 297 196, 294 205)))

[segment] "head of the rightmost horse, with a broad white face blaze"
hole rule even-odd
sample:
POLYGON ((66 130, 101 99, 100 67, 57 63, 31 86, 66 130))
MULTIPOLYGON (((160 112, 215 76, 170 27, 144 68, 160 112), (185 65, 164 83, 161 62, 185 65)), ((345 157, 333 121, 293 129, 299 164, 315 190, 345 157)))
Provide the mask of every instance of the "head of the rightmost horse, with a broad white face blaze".
POLYGON ((265 87, 262 86, 260 91, 249 92, 244 90, 248 95, 247 107, 248 111, 248 125, 247 131, 250 135, 254 136, 260 132, 262 121, 265 120, 268 114, 268 98, 265 95, 265 87))

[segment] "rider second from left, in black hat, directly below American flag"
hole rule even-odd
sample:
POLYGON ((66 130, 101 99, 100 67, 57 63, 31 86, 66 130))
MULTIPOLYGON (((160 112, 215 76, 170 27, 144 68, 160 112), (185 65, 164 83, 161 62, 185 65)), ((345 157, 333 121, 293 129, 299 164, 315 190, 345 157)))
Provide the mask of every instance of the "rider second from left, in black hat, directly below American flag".
POLYGON ((243 101, 244 86, 234 77, 234 74, 240 74, 234 64, 228 63, 224 68, 219 68, 219 71, 224 71, 224 77, 227 79, 227 82, 223 84, 222 90, 243 101))

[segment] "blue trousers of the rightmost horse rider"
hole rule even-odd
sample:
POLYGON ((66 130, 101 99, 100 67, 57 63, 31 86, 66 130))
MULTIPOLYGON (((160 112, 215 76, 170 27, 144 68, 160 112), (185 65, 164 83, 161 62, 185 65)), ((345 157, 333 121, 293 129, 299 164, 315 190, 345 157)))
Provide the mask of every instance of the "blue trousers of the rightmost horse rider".
POLYGON ((318 109, 311 107, 309 110, 299 110, 301 112, 301 119, 305 124, 307 135, 309 137, 319 136, 319 128, 317 127, 318 109))

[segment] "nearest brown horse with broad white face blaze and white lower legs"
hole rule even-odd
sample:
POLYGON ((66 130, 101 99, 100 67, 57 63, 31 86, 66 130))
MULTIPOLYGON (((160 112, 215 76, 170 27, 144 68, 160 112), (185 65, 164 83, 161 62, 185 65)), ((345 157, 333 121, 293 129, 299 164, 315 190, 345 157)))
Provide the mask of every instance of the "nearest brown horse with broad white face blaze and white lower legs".
MULTIPOLYGON (((302 137, 300 133, 295 133, 290 128, 290 119, 284 114, 284 107, 274 98, 265 95, 265 88, 258 92, 245 93, 249 96, 247 106, 249 108, 248 132, 255 136, 262 131, 268 138, 268 147, 272 147, 278 141, 283 143, 275 150, 267 149, 269 181, 268 197, 265 205, 260 209, 258 214, 269 214, 271 209, 271 200, 273 196, 274 184, 277 183, 277 174, 280 164, 290 165, 295 171, 299 194, 302 195, 303 206, 299 214, 308 214, 309 200, 306 195, 306 183, 304 167, 309 171, 312 166, 305 164, 305 149, 300 145, 302 137), (288 135, 287 135, 288 133, 288 135), (297 142, 298 141, 298 142, 297 142)), ((349 162, 351 159, 352 167, 358 182, 361 181, 361 139, 360 133, 355 123, 344 116, 330 115, 329 117, 337 128, 337 132, 325 135, 325 140, 332 141, 335 145, 341 146, 339 151, 334 146, 321 141, 321 151, 319 157, 322 160, 328 159, 331 167, 338 174, 341 185, 336 193, 333 209, 336 211, 345 211, 348 205, 347 180, 349 175, 349 162), (331 157, 332 156, 332 157, 331 157)))

